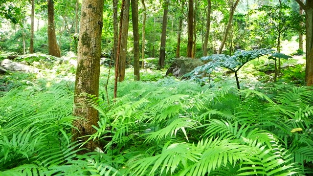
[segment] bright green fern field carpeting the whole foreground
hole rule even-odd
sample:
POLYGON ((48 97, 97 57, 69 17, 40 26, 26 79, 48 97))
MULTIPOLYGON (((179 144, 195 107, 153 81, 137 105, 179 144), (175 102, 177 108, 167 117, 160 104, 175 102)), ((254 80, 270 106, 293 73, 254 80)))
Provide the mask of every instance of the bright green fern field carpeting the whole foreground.
POLYGON ((116 101, 111 92, 110 104, 90 97, 89 140, 105 147, 84 155, 71 142, 70 85, 1 93, 0 176, 313 175, 312 88, 165 78, 123 82, 116 101))

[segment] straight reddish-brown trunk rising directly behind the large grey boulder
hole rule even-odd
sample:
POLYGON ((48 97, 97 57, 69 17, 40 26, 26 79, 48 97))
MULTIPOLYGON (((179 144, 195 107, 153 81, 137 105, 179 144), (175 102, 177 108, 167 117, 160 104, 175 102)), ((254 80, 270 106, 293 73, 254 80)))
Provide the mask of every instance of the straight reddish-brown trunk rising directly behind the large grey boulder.
POLYGON ((188 30, 188 43, 187 43, 187 57, 192 57, 192 45, 194 43, 193 41, 193 35, 194 35, 194 21, 193 21, 193 15, 194 15, 194 1, 188 0, 188 20, 187 20, 187 30, 188 30))

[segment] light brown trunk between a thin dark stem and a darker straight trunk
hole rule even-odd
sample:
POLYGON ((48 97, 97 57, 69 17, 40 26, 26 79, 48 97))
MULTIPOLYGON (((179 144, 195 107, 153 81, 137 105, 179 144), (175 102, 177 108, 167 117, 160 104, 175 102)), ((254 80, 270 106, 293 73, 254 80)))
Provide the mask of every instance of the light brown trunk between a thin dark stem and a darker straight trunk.
POLYGON ((128 22, 129 22, 129 5, 130 0, 125 0, 122 22, 122 36, 121 36, 121 49, 119 53, 119 81, 123 82, 125 79, 125 69, 126 69, 126 55, 127 55, 127 37, 128 37, 128 22))

